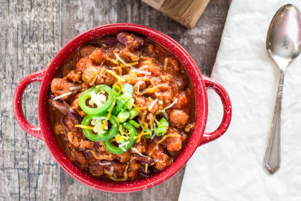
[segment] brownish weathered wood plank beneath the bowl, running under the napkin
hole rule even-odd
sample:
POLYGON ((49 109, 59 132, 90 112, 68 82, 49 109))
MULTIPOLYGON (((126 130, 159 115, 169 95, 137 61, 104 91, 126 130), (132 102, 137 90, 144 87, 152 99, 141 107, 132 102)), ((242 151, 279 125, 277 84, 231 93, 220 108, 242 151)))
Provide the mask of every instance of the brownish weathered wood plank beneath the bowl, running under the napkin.
MULTIPOLYGON (((93 27, 128 22, 157 29, 179 42, 201 72, 210 75, 227 15, 229 2, 211 0, 200 20, 188 30, 139 0, 64 1, 61 5, 61 46, 93 27)), ((60 170, 61 200, 177 200, 184 168, 169 180, 135 193, 106 193, 87 187, 60 170)))

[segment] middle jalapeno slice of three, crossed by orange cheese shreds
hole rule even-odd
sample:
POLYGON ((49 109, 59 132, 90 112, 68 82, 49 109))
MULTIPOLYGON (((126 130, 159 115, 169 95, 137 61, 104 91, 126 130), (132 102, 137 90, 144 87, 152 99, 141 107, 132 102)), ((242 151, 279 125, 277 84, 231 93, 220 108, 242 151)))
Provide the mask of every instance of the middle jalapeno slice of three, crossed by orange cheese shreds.
MULTIPOLYGON (((101 116, 101 117, 106 117, 107 114, 101 116)), ((100 117, 95 117, 95 118, 100 118, 100 117)), ((84 126, 90 126, 90 122, 93 120, 93 117, 87 115, 85 118, 82 120, 82 125, 84 126)), ((116 135, 118 132, 118 123, 115 119, 114 116, 110 116, 109 121, 112 124, 112 127, 109 128, 108 130, 98 130, 97 134, 92 133, 92 130, 83 128, 82 130, 85 133, 85 136, 91 140, 91 141, 104 141, 104 140, 109 140, 112 137, 116 135), (106 133, 107 132, 107 133, 106 133)))

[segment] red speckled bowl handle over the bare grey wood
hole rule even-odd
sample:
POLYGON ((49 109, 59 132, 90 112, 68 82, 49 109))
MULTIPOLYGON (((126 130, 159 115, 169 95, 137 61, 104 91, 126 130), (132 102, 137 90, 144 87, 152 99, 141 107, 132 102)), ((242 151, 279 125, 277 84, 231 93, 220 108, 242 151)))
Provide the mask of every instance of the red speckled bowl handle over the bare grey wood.
POLYGON ((39 138, 40 140, 44 140, 44 137, 41 133, 41 128, 31 125, 24 116, 22 109, 22 96, 26 87, 29 84, 33 82, 42 82, 45 71, 46 68, 24 77, 17 85, 13 99, 14 115, 17 120, 17 123, 26 133, 32 135, 33 137, 39 138))

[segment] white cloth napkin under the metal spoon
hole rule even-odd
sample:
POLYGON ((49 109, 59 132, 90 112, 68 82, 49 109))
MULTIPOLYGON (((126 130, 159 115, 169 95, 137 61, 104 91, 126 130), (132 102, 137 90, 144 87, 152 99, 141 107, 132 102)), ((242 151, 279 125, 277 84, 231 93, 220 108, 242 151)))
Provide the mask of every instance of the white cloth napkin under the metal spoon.
MULTIPOLYGON (((265 40, 275 12, 288 3, 301 9, 300 0, 232 1, 211 75, 229 93, 232 121, 188 161, 180 201, 301 199, 301 56, 284 76, 280 169, 269 175, 262 165, 279 79, 265 40)), ((222 119, 222 104, 207 91, 209 132, 222 119)))

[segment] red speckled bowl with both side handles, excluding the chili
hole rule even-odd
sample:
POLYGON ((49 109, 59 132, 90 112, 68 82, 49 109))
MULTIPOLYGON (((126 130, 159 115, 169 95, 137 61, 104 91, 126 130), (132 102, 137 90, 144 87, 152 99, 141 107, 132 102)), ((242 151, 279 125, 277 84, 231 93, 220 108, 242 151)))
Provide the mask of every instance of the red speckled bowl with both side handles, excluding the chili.
POLYGON ((109 192, 138 191, 150 188, 165 181, 186 164, 186 162, 190 159, 191 155, 194 153, 198 146, 210 142, 224 134, 229 127, 232 114, 231 101, 224 87, 222 87, 219 83, 210 79, 209 77, 203 76, 200 73, 197 64, 185 51, 185 49, 183 49, 182 46, 180 46, 170 37, 157 30, 153 30, 149 27, 144 27, 141 25, 123 23, 108 24, 96 27, 94 29, 86 31, 85 33, 82 33, 81 35, 68 42, 67 45, 65 45, 57 53, 57 55, 54 57, 47 68, 34 72, 20 81, 14 93, 13 106, 15 118, 22 129, 30 135, 39 138, 40 140, 44 140, 54 159, 66 172, 88 186, 109 192), (74 165, 72 162, 70 162, 70 160, 66 158, 66 155, 61 150, 57 140, 54 138, 54 133, 51 129, 51 123, 47 109, 47 95, 51 80, 57 74, 59 68, 66 60, 66 58, 70 56, 72 52, 74 52, 79 46, 91 39, 96 39, 106 34, 117 33, 122 30, 136 32, 145 36, 146 38, 150 38, 160 43, 165 48, 169 49, 170 52, 178 57, 178 59, 186 68, 194 86, 196 95, 196 118, 195 128, 193 133, 191 134, 191 137, 188 139, 187 145, 183 148, 183 150, 180 152, 180 154, 177 156, 170 167, 159 171, 157 174, 154 174, 151 177, 143 178, 137 181, 120 182, 95 178, 80 170, 78 167, 76 167, 76 165, 74 165), (33 82, 41 82, 38 99, 39 127, 32 126, 25 119, 21 104, 24 90, 30 83, 33 82), (208 113, 206 88, 213 89, 220 96, 224 108, 222 122, 219 127, 212 133, 204 133, 208 113))

